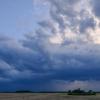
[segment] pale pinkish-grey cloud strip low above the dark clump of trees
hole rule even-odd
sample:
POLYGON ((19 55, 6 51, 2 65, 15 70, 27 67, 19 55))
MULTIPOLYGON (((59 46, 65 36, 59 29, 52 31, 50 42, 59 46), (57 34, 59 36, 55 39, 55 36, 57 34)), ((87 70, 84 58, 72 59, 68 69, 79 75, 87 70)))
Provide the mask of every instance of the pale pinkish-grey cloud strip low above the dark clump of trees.
POLYGON ((100 81, 94 81, 94 80, 88 80, 88 81, 80 81, 80 80, 74 80, 74 81, 62 81, 62 80, 56 80, 55 82, 52 82, 53 87, 55 90, 73 90, 77 88, 81 88, 83 90, 95 90, 99 91, 100 81))

